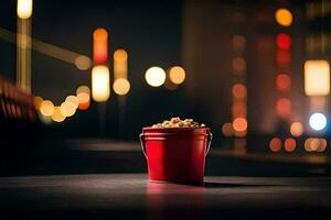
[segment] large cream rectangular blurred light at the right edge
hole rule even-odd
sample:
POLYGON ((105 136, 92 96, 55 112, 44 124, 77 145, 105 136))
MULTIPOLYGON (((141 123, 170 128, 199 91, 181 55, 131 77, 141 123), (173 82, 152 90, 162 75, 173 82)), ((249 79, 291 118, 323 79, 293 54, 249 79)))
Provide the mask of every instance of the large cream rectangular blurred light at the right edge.
POLYGON ((307 96, 330 94, 330 64, 328 61, 305 62, 305 92, 307 96))

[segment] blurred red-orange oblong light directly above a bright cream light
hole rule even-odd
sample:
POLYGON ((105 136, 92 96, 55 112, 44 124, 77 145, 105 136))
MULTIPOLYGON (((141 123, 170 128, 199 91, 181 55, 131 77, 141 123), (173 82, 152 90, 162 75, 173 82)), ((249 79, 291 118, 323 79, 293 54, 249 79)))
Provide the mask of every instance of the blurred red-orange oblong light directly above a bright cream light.
POLYGON ((108 59, 108 33, 105 29, 93 32, 93 59, 97 65, 104 65, 108 59))

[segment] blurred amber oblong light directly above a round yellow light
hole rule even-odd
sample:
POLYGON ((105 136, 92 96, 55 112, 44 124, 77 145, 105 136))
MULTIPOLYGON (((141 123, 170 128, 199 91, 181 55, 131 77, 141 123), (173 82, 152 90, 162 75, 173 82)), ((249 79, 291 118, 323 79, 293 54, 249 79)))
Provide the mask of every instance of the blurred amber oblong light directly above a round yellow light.
POLYGON ((114 53, 114 79, 128 77, 128 53, 119 48, 114 53))

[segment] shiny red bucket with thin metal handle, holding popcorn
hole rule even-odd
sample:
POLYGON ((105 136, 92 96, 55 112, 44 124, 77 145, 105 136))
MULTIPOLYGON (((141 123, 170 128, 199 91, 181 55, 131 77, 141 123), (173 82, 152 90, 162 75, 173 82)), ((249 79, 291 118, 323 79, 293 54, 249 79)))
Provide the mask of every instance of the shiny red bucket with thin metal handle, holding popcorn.
POLYGON ((140 141, 150 182, 203 183, 209 128, 143 128, 140 141))

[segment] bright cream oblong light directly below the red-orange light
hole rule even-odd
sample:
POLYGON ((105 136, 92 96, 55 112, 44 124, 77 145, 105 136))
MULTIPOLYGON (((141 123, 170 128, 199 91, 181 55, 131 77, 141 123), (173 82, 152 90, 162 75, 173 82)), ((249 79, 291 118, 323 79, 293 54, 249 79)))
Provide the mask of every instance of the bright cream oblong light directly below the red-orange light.
POLYGON ((107 66, 95 66, 92 69, 92 97, 95 101, 107 101, 110 96, 109 69, 107 66))

